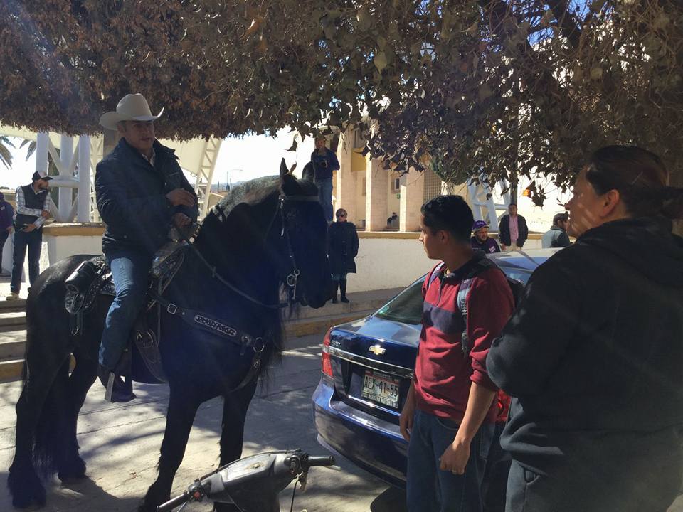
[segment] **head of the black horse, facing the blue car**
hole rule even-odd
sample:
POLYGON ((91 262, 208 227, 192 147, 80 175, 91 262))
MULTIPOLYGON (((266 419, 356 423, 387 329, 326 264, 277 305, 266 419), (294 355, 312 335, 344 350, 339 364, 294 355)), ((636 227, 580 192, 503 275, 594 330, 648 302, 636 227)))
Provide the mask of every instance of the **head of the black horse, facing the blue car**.
POLYGON ((318 201, 316 186, 297 180, 284 164, 280 166, 280 238, 285 247, 280 273, 292 287, 294 299, 314 308, 332 296, 332 277, 327 265, 327 221, 318 201), (292 272, 299 271, 293 277, 292 272))

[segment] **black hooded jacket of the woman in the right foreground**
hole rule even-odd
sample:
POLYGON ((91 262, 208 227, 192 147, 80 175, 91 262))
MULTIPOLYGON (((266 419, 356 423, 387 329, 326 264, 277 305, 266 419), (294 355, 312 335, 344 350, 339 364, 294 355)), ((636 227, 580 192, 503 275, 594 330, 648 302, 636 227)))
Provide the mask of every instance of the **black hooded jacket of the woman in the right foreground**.
POLYGON ((523 466, 683 424, 683 243, 670 232, 659 218, 605 223, 531 276, 487 358, 516 397, 501 444, 523 466))

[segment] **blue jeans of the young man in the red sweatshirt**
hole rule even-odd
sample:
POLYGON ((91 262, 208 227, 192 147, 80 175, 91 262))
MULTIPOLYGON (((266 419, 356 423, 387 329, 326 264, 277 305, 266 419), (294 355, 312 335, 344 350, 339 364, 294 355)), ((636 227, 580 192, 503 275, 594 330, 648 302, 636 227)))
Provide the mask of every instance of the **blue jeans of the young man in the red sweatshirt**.
POLYGON ((455 439, 458 423, 415 410, 408 444, 406 503, 409 512, 481 512, 481 485, 494 425, 484 423, 470 444, 465 474, 439 469, 440 457, 455 439))

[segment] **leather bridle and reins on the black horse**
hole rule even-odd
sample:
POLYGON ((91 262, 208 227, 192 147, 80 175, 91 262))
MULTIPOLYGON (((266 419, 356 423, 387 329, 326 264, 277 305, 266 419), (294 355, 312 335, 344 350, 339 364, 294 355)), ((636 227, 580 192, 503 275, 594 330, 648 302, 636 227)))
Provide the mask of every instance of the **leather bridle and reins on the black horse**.
MULTIPOLYGON (((285 284, 287 287, 290 287, 292 289, 292 297, 296 299, 297 296, 297 283, 299 281, 299 276, 301 275, 301 271, 299 270, 299 267, 297 267, 297 260, 294 255, 294 250, 292 250, 292 242, 290 240, 290 233, 289 230, 287 230, 287 223, 285 223, 285 202, 287 201, 308 201, 308 202, 318 202, 318 197, 317 196, 286 196, 285 194, 280 194, 280 196, 277 198, 277 208, 275 208, 275 212, 272 215, 272 218, 270 218, 270 223, 268 223, 268 228, 265 230, 265 236, 268 236, 268 233, 270 233, 270 228, 272 228, 272 224, 275 222, 275 218, 277 218, 277 214, 280 213, 280 219, 282 220, 282 231, 280 232, 280 236, 285 238, 285 242, 287 244, 287 252, 289 252, 289 258, 292 266, 292 271, 290 274, 285 277, 285 284)), ((223 208, 221 208, 220 205, 216 205, 213 207, 223 219, 227 218, 227 215, 223 208)), ((196 223, 195 223, 196 224, 196 223)), ((231 289, 233 292, 236 294, 240 295, 241 297, 247 299, 250 302, 253 302, 254 304, 258 304, 259 306, 268 308, 268 309, 280 309, 284 308, 287 306, 291 306, 291 301, 288 302, 278 302, 277 304, 265 304, 264 302, 261 302, 260 300, 256 299, 255 297, 252 297, 250 294, 247 292, 244 292, 243 290, 239 289, 238 287, 235 287, 234 284, 231 284, 231 282, 228 282, 227 279, 225 279, 221 274, 218 274, 216 272, 216 266, 211 265, 206 258, 201 254, 201 252, 197 249, 197 247, 194 246, 194 243, 189 240, 188 237, 183 233, 181 228, 177 228, 178 232, 181 235, 181 238, 191 247, 191 249, 194 251, 194 253, 197 255, 199 260, 205 265, 208 270, 211 270, 211 277, 213 279, 217 279, 219 282, 221 282, 224 286, 228 287, 231 289)))

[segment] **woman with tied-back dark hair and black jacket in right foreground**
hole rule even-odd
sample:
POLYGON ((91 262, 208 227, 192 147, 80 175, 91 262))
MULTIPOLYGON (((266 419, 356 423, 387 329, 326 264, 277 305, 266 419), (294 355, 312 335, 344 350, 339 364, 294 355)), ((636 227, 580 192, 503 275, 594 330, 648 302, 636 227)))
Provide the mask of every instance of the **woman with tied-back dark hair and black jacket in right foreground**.
POLYGON ((595 151, 487 358, 514 397, 509 512, 665 512, 683 471, 683 190, 635 146, 595 151), (558 329, 558 325, 561 326, 558 329))

